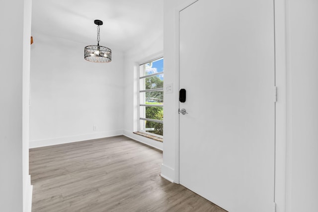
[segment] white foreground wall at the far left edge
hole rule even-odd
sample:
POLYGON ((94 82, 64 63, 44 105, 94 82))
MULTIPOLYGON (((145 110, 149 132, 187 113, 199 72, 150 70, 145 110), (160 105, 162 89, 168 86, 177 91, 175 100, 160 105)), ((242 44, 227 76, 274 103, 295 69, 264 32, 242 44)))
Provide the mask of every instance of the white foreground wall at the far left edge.
POLYGON ((31 0, 1 2, 0 20, 0 211, 26 212, 31 0))

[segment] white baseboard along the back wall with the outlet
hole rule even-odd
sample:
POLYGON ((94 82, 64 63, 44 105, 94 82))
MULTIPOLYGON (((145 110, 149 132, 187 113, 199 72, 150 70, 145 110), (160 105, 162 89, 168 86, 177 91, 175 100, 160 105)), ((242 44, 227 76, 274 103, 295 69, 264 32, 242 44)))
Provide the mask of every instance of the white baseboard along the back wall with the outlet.
POLYGON ((71 142, 77 142, 77 141, 87 141, 87 140, 93 140, 93 139, 102 139, 102 138, 107 138, 112 136, 121 136, 121 135, 123 135, 123 131, 116 130, 116 131, 96 132, 96 133, 77 135, 77 136, 35 140, 35 141, 30 141, 29 148, 57 145, 62 143, 71 143, 71 142))

